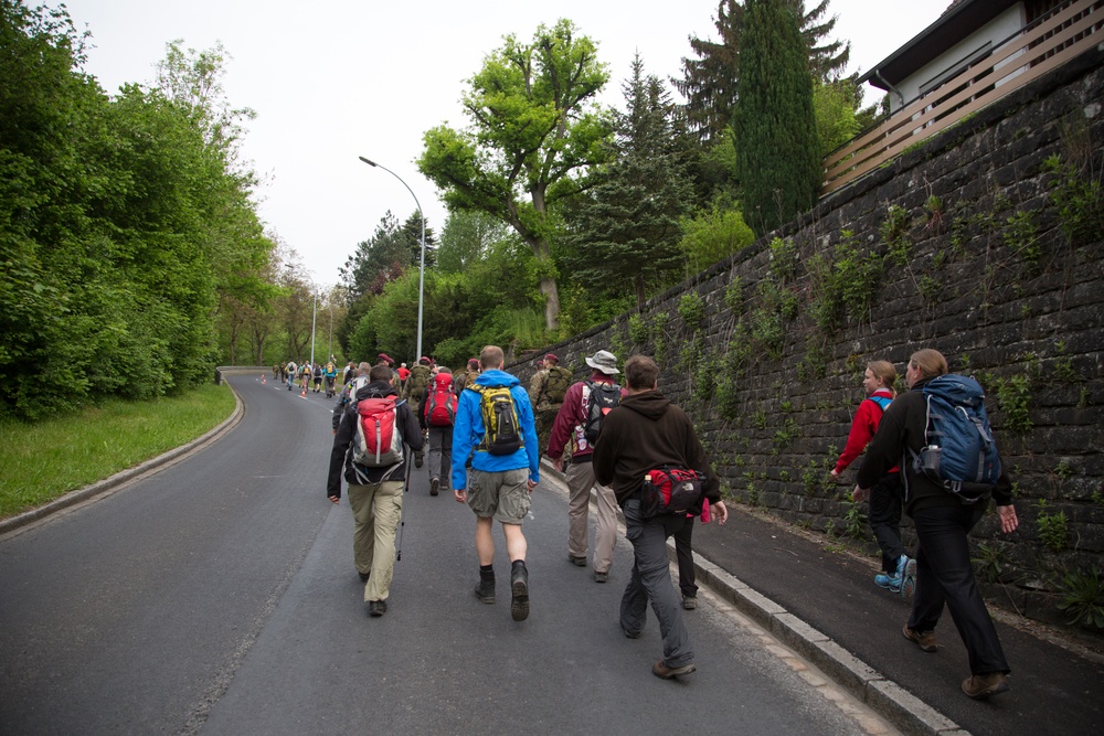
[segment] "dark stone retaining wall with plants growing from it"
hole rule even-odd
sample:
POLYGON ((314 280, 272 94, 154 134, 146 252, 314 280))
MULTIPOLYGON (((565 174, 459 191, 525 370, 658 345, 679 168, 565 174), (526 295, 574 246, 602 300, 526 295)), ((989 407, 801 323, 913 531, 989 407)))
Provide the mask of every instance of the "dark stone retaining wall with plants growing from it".
POLYGON ((1104 553, 1104 268, 1098 201, 1095 234, 1071 239, 1070 214, 1091 209, 1063 212, 1053 193, 1100 186, 1102 58, 1084 54, 643 310, 507 370, 528 385, 549 351, 576 378, 599 349, 654 355, 734 499, 869 537, 864 506, 848 501, 853 471, 837 483, 827 470, 867 362, 903 372, 935 348, 986 387, 1016 483, 1020 530, 999 534, 992 514, 979 524, 979 578, 1018 611, 1061 619, 1061 579, 1104 553), (1055 154, 1092 167, 1057 175, 1044 166, 1055 154))

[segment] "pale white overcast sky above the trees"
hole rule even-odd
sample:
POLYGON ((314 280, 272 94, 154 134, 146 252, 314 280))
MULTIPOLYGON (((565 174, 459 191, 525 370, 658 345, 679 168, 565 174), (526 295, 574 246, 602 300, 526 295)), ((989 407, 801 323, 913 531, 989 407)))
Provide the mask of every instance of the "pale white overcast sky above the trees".
MULTIPOLYGON (((45 0, 56 4, 54 0, 45 0)), ((809 4, 808 2, 806 4, 809 4)), ((836 38, 851 42, 851 68, 867 71, 935 21, 949 0, 831 0, 836 38)), ((414 166, 422 135, 459 107, 484 57, 509 33, 532 38, 540 23, 574 21, 598 44, 611 82, 602 102, 620 107, 620 84, 639 51, 645 72, 679 76, 688 36, 715 39, 716 0, 66 0, 77 29, 92 32, 85 71, 108 93, 148 82, 166 43, 210 49, 233 60, 225 89, 251 107, 245 158, 265 183, 261 216, 300 255, 317 285, 338 268, 391 210, 414 212, 410 192, 439 234, 446 217, 433 184, 414 166)), ((868 95, 868 100, 875 97, 868 95)))

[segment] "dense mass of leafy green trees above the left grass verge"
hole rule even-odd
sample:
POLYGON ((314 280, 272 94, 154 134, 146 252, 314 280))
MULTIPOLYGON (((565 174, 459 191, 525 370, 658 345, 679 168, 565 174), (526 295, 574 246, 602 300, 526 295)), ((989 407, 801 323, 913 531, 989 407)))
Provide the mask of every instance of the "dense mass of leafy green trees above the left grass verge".
POLYGON ((216 326, 241 329, 224 297, 272 292, 234 141, 160 89, 109 98, 84 40, 63 8, 0 0, 0 414, 206 380, 216 326))

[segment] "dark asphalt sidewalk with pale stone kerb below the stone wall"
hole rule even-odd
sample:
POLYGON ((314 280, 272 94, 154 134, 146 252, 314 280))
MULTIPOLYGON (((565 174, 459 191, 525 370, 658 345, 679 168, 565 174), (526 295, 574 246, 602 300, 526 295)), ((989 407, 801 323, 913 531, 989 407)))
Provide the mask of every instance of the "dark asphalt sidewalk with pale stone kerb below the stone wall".
MULTIPOLYGON (((546 461, 541 473, 563 487, 546 461)), ((1041 626, 1013 627, 1000 616, 1011 691, 973 701, 960 689, 969 665, 949 614, 935 632, 938 651, 922 652, 901 633, 912 599, 874 586, 873 559, 765 513, 730 512, 723 527, 696 523, 698 585, 731 600, 904 733, 1101 733, 1104 657, 1052 643, 1027 632, 1041 626)), ((669 547, 673 561, 673 542, 669 547)))

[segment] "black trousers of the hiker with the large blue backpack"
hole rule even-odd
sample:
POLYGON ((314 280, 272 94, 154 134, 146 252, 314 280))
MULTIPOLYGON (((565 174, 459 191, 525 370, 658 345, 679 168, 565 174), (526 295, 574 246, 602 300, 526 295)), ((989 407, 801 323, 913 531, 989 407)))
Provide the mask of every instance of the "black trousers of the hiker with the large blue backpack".
POLYGON ((931 631, 943 606, 966 644, 972 674, 1008 673, 997 629, 974 580, 966 535, 985 513, 984 504, 932 506, 912 514, 920 545, 916 551, 916 594, 909 628, 931 631))

